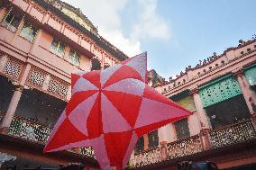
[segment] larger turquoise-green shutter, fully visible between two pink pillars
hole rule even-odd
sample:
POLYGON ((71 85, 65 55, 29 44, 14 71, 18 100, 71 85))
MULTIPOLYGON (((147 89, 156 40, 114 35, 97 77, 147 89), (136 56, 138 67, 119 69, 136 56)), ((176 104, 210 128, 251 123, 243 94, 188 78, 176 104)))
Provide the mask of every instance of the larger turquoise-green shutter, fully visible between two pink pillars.
POLYGON ((203 106, 207 107, 242 94, 242 91, 233 76, 224 76, 208 85, 200 87, 199 94, 203 106))

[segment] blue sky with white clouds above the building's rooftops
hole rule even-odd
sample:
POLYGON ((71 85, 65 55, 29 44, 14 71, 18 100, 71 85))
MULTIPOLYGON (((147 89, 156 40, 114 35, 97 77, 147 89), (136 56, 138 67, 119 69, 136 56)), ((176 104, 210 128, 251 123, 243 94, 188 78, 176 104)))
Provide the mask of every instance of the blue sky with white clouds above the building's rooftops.
POLYGON ((256 0, 62 0, 129 57, 169 79, 256 33, 256 0))

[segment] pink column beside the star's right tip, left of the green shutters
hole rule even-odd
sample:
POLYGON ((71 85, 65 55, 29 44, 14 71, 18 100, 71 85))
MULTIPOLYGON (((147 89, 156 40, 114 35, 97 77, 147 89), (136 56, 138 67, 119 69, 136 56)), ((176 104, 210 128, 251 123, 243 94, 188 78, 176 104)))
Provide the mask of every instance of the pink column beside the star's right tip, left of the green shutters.
POLYGON ((202 147, 203 149, 206 150, 211 148, 210 135, 209 135, 209 131, 210 131, 209 122, 207 120, 206 112, 204 110, 200 95, 198 94, 198 89, 197 88, 192 89, 191 94, 193 95, 194 103, 197 108, 197 117, 201 124, 200 139, 202 142, 202 147))

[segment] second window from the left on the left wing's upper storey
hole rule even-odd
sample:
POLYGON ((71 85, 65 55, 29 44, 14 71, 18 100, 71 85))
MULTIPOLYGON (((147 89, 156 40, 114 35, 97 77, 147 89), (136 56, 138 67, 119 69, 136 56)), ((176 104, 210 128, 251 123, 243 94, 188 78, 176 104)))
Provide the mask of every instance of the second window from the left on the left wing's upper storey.
POLYGON ((38 28, 32 25, 32 23, 24 22, 23 28, 20 32, 20 36, 25 40, 32 42, 36 36, 38 28))

